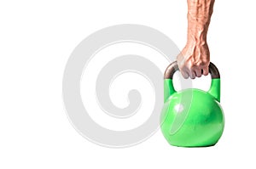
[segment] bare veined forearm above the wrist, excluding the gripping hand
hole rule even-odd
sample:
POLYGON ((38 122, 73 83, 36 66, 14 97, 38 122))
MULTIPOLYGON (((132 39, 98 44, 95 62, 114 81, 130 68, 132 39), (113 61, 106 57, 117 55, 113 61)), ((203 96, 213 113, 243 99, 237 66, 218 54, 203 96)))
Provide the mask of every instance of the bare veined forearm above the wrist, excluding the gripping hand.
POLYGON ((188 0, 188 43, 204 45, 214 0, 188 0))

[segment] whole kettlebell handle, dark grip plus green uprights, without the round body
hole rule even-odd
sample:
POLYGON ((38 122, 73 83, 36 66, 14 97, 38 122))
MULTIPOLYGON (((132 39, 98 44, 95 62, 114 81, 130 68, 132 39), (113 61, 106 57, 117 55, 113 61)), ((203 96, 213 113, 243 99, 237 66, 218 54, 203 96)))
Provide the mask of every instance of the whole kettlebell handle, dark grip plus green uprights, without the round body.
MULTIPOLYGON (((176 90, 172 83, 172 78, 174 73, 178 70, 177 61, 172 62, 172 64, 168 65, 166 68, 166 72, 164 75, 165 83, 164 83, 164 101, 173 94, 176 93, 176 90)), ((218 69, 215 65, 210 62, 209 65, 209 73, 212 77, 211 87, 208 90, 208 93, 211 94, 218 102, 220 102, 220 75, 218 69)))

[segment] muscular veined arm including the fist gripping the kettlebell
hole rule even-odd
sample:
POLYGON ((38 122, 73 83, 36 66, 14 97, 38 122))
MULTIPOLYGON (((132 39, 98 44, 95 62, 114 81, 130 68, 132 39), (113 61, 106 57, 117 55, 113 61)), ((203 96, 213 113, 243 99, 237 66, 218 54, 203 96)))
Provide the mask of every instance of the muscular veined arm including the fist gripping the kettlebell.
POLYGON ((188 1, 188 37, 186 46, 177 56, 178 67, 185 78, 207 76, 210 52, 207 31, 210 24, 214 0, 188 1))

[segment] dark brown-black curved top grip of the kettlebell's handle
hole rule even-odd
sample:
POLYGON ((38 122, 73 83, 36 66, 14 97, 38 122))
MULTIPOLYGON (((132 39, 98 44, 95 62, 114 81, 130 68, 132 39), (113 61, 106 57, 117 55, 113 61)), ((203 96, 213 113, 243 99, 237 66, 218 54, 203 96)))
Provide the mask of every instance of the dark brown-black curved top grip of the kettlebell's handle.
MULTIPOLYGON (((172 62, 172 64, 168 65, 166 68, 166 72, 164 75, 165 79, 172 79, 174 73, 179 70, 177 66, 177 61, 172 62)), ((211 74, 212 79, 219 79, 220 75, 218 72, 218 68, 210 62, 209 65, 209 73, 211 74)))

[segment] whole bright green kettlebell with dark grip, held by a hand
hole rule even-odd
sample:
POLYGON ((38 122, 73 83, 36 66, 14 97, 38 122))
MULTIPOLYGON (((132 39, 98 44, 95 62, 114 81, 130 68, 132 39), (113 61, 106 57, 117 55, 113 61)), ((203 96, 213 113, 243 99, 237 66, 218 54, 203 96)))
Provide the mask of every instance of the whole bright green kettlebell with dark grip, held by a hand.
POLYGON ((208 92, 196 88, 175 91, 172 77, 177 61, 166 68, 164 75, 164 107, 161 131, 169 144, 178 147, 205 147, 217 144, 224 131, 224 114, 220 101, 220 76, 210 63, 212 84, 208 92))

